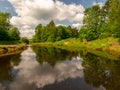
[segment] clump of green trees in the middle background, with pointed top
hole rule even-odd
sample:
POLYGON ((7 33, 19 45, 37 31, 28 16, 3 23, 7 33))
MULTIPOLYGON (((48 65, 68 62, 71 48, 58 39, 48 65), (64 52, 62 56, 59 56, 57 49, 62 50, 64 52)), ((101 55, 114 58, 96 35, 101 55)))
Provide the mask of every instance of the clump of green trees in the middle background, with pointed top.
POLYGON ((56 26, 54 21, 50 21, 46 26, 39 24, 35 28, 35 36, 33 42, 55 42, 62 39, 77 37, 78 31, 71 26, 56 26))

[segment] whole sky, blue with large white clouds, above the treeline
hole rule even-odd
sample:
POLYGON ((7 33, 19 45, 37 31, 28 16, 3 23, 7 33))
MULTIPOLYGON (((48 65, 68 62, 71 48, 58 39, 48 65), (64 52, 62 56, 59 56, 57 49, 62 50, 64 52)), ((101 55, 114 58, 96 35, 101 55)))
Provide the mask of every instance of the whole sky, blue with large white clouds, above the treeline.
POLYGON ((101 6, 106 0, 0 0, 0 11, 11 13, 10 22, 20 30, 22 37, 31 38, 38 24, 54 20, 56 25, 80 28, 84 10, 101 6))

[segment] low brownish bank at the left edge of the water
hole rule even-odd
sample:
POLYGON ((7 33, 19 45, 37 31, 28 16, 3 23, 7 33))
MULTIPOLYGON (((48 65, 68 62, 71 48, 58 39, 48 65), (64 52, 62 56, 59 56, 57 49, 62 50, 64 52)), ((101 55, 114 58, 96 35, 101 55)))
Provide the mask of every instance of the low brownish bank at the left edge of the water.
POLYGON ((27 48, 27 45, 25 44, 18 44, 18 45, 0 45, 0 56, 9 54, 9 53, 15 53, 21 50, 24 50, 27 48))

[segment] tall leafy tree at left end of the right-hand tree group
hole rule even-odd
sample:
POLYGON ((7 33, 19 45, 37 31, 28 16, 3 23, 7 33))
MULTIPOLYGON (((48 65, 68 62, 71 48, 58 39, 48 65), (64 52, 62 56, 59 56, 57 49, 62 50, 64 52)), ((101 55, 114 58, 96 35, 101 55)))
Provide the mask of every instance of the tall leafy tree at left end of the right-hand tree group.
POLYGON ((101 9, 99 5, 86 8, 83 20, 83 26, 79 31, 80 40, 86 39, 87 41, 99 38, 100 27, 102 26, 101 9))

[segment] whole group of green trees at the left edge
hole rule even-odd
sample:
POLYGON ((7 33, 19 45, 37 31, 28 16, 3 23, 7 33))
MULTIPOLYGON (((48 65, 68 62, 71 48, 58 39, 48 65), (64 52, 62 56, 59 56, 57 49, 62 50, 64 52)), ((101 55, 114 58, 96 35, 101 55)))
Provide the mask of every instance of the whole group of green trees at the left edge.
POLYGON ((6 42, 12 40, 16 41, 20 39, 20 32, 16 27, 10 24, 10 14, 0 12, 0 41, 6 42))

